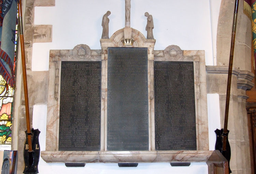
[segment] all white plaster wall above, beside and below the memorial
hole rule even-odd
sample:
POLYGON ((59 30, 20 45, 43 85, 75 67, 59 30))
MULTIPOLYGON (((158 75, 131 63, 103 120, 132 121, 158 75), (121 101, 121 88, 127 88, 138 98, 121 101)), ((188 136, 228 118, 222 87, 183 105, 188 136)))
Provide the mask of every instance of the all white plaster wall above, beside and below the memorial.
MULTIPOLYGON (((220 1, 220 0, 217 0, 220 1)), ((145 12, 154 19, 155 50, 178 45, 183 50, 205 50, 205 62, 214 65, 212 28, 218 13, 215 0, 131 0, 131 27, 146 35, 145 12), (213 4, 214 5, 213 5, 213 4)), ((124 27, 124 0, 56 0, 54 7, 35 7, 35 25, 53 25, 52 43, 34 43, 32 71, 47 71, 50 49, 73 49, 87 44, 91 49, 101 49, 101 21, 106 11, 111 11, 109 36, 124 27)), ((215 26, 216 27, 216 26, 215 26)), ((215 34, 216 35, 216 34, 215 34)), ((215 39, 216 40, 216 39, 215 39)), ((215 41, 216 42, 216 41, 215 41)), ((215 43, 216 46, 216 43, 215 43)), ((211 110, 219 110, 217 98, 210 97, 211 110), (215 101, 215 102, 214 102, 215 101)), ((45 150, 46 105, 34 105, 33 128, 39 129, 41 150, 45 150)), ((211 122, 210 122, 211 123, 211 122)), ((216 128, 215 128, 216 129, 216 128)), ((214 130, 215 130, 214 129, 214 130)), ((209 129, 210 131, 210 129, 209 129)), ((210 136, 210 143, 215 143, 210 136)), ((212 144, 210 144, 211 150, 212 144)), ((205 163, 191 163, 189 167, 171 167, 169 163, 145 163, 137 168, 118 168, 117 164, 86 164, 84 168, 67 168, 65 164, 39 162, 39 172, 56 173, 208 173, 205 163)))

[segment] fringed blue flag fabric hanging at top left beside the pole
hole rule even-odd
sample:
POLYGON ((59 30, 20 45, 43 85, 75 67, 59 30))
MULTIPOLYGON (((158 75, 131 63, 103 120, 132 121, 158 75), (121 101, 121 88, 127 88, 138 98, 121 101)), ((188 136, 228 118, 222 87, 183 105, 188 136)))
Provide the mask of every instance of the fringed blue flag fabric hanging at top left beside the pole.
POLYGON ((17 0, 0 0, 0 74, 14 85, 17 0))

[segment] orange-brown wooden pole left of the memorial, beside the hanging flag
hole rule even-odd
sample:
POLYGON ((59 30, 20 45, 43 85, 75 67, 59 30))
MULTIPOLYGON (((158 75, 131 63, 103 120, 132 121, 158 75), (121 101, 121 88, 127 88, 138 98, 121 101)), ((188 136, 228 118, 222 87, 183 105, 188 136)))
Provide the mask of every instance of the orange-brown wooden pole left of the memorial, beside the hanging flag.
POLYGON ((22 71, 23 71, 24 96, 25 96, 26 121, 27 121, 28 151, 32 152, 33 150, 32 150, 31 130, 30 130, 30 120, 29 120, 28 85, 27 85, 27 71, 26 71, 26 60, 25 60, 21 1, 22 0, 19 0, 18 2, 19 36, 20 36, 20 47, 21 47, 21 53, 22 53, 22 71))

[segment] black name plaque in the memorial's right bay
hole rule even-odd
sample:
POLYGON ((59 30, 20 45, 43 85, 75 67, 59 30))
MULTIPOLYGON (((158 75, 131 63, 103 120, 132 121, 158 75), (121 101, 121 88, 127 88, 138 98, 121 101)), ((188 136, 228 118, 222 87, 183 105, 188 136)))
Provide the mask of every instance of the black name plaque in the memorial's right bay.
POLYGON ((156 150, 196 150, 193 62, 155 61, 156 150))

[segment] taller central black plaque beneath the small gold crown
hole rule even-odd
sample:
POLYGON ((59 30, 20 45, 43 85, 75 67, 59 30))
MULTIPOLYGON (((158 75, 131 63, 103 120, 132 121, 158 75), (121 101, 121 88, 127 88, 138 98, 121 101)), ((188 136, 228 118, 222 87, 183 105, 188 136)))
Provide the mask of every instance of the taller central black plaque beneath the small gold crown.
POLYGON ((147 88, 147 48, 109 48, 107 150, 148 150, 147 88))

